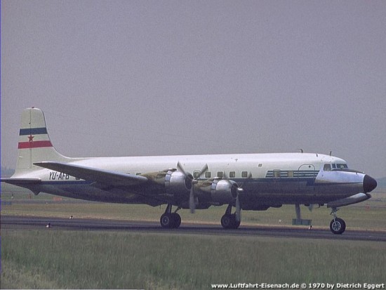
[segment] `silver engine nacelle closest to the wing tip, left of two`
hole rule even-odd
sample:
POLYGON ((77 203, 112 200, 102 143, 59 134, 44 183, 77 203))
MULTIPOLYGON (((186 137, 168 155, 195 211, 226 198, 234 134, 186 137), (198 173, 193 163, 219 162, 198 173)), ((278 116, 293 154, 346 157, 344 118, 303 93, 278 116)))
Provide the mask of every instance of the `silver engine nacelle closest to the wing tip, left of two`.
POLYGON ((193 176, 176 170, 168 170, 165 175, 166 192, 172 195, 188 195, 192 188, 193 176))

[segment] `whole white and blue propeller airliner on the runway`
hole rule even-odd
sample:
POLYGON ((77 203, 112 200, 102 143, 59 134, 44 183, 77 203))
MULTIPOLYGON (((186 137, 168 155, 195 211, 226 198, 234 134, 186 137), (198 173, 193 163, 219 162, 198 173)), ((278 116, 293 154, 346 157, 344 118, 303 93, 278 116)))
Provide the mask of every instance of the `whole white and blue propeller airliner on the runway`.
POLYGON ((16 170, 1 182, 35 195, 166 204, 163 228, 180 226, 180 209, 194 213, 222 205, 227 205, 221 218, 226 229, 239 227, 241 210, 265 211, 283 204, 295 205, 293 223, 304 225, 301 204, 326 205, 333 215, 331 232, 337 235, 346 228, 338 209, 371 198, 368 192, 377 186, 371 176, 349 169, 344 159, 318 153, 69 158, 53 147, 44 113, 36 107, 22 112, 16 170))

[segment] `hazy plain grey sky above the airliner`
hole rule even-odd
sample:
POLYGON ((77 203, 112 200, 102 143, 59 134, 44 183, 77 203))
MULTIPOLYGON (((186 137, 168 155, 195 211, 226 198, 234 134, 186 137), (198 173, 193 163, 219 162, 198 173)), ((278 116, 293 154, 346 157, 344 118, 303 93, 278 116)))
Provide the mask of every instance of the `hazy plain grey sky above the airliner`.
POLYGON ((386 176, 386 1, 1 1, 1 165, 39 107, 70 157, 326 153, 386 176))

